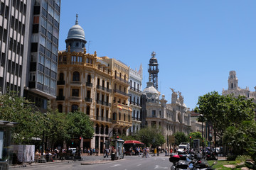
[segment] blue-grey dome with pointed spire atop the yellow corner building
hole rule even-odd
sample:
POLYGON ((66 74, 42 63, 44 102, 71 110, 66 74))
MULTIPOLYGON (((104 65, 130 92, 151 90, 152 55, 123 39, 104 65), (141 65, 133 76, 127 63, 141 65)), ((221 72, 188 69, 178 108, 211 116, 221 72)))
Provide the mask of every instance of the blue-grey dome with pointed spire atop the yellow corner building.
POLYGON ((76 14, 75 25, 68 31, 68 37, 65 42, 66 51, 68 51, 68 46, 70 46, 70 52, 83 52, 87 41, 85 40, 85 31, 78 25, 78 14, 76 14))

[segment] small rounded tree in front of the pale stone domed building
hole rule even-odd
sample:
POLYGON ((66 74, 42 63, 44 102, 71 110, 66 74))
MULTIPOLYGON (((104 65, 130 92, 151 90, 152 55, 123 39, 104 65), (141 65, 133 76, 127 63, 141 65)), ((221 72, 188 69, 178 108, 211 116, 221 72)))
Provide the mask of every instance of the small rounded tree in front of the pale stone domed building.
POLYGON ((137 132, 137 138, 143 142, 146 147, 157 147, 163 145, 165 142, 164 136, 161 135, 160 128, 146 127, 137 132))

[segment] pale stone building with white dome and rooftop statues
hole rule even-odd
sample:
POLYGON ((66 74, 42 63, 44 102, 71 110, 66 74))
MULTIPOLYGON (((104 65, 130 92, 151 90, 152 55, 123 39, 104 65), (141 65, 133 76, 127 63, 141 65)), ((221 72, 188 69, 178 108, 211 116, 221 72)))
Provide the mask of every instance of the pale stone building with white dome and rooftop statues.
MULTIPOLYGON (((191 132, 189 108, 183 103, 181 92, 178 91, 177 94, 174 89, 171 91, 171 103, 167 103, 165 96, 161 95, 154 87, 154 82, 147 82, 146 88, 142 91, 142 94, 146 96, 145 124, 161 128, 164 137, 173 135, 175 132, 184 132, 188 135, 191 132)), ((164 147, 167 147, 167 143, 164 144, 164 147)))

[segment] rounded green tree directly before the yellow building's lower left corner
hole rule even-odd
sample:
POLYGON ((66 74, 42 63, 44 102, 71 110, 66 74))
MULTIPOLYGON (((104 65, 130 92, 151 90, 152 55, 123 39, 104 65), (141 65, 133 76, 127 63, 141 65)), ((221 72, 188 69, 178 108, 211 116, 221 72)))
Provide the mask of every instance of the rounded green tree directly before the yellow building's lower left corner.
POLYGON ((89 116, 83 112, 75 111, 67 115, 67 140, 74 137, 91 138, 94 134, 93 123, 89 116))

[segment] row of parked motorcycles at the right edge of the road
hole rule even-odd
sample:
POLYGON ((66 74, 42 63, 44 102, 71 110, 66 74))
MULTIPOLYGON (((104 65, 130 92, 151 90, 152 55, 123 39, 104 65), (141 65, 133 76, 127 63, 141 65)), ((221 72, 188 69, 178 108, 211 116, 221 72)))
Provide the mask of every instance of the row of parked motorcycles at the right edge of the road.
POLYGON ((191 169, 191 170, 212 170, 213 168, 209 166, 206 159, 217 160, 215 154, 206 153, 206 157, 202 157, 202 154, 197 152, 191 154, 178 153, 171 154, 169 161, 173 163, 171 170, 182 170, 182 169, 191 169))

